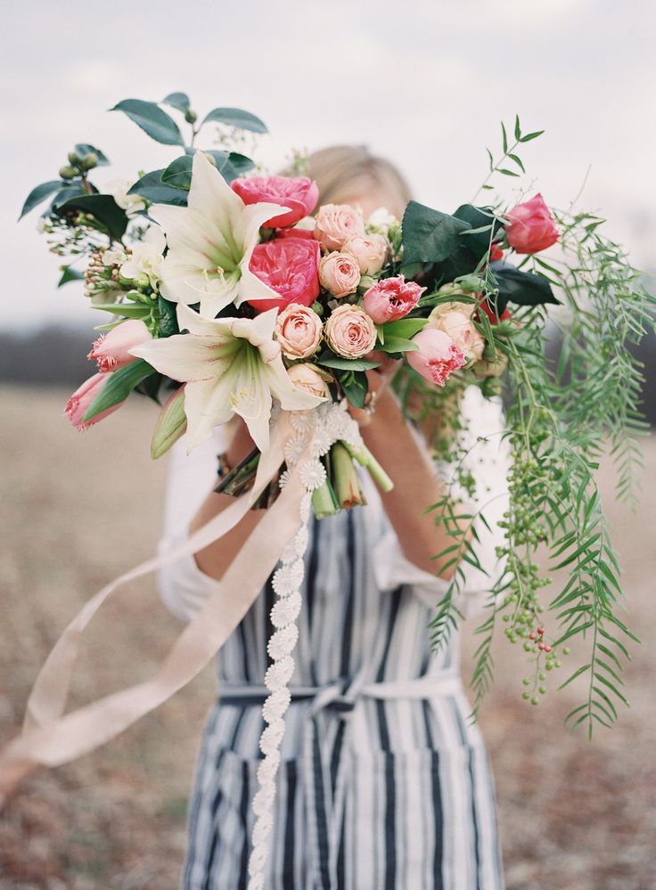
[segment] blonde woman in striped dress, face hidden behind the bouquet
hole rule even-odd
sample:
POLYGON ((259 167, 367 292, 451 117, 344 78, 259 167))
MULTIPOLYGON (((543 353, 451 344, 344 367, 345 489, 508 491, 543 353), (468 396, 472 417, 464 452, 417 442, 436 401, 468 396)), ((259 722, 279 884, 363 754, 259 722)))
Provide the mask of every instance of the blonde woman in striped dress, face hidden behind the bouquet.
MULTIPOLYGON (((323 203, 359 205, 365 216, 381 206, 400 216, 410 197, 398 171, 364 148, 316 152, 309 175, 323 203)), ((446 544, 422 508, 439 499, 444 483, 388 378, 389 372, 371 373, 375 411, 358 419, 394 489, 381 496, 365 478, 365 508, 310 526, 291 681, 296 693, 267 863, 270 890, 503 886, 487 758, 468 721, 456 636, 439 654, 430 652, 430 617, 447 587, 430 557, 446 544), (380 693, 371 694, 372 686, 380 693)), ((470 388, 463 412, 473 445, 468 461, 488 501, 504 491, 505 457, 500 437, 480 443, 477 437, 502 429, 501 408, 470 388)), ((189 456, 184 442, 177 444, 163 550, 229 502, 212 493, 217 453, 230 467, 252 445, 243 425, 227 445, 224 436, 217 429, 189 456)), ((492 501, 492 527, 503 509, 503 498, 492 501)), ((176 615, 189 619, 200 608, 260 515, 251 511, 195 559, 163 571, 162 597, 176 615)), ((491 571, 496 543, 492 535, 483 539, 482 561, 491 571)), ((469 575, 465 599, 472 600, 489 582, 469 575)), ((184 890, 247 886, 273 601, 267 585, 218 657, 221 700, 209 715, 197 767, 184 890)))

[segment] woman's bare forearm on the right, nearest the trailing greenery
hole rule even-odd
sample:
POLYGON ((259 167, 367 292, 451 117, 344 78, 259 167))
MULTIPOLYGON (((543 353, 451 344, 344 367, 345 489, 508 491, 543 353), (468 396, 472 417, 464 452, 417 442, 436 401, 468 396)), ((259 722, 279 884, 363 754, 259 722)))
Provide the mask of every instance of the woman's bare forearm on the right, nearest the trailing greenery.
MULTIPOLYGON (((382 505, 406 559, 431 575, 449 580, 455 565, 442 571, 440 561, 431 557, 453 544, 454 539, 443 526, 436 525, 434 512, 424 513, 426 507, 441 499, 444 486, 430 455, 417 441, 386 387, 385 377, 371 376, 370 385, 377 388, 376 409, 360 432, 365 445, 394 479, 394 488, 381 494, 382 505)), ((451 558, 450 554, 446 556, 442 565, 451 558)))

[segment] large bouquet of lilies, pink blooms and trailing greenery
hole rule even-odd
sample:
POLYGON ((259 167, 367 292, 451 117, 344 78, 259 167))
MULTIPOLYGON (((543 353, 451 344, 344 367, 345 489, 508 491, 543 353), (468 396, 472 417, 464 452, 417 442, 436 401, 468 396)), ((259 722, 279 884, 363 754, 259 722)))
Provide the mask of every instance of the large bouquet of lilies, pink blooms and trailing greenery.
MULTIPOLYGON (((239 495, 243 509, 280 504, 282 516, 293 489, 302 518, 310 503, 323 517, 365 502, 354 461, 383 489, 393 484, 348 408, 374 410, 367 372, 398 360, 401 404, 415 421, 440 413, 431 445, 455 466, 430 507, 452 540, 436 554, 454 572, 431 625, 439 646, 462 617, 463 567, 480 567, 476 529, 486 524, 485 499, 471 515, 456 494, 474 494, 458 401, 471 385, 501 394, 512 449, 504 567, 489 579, 477 632, 474 710, 503 627, 529 657, 523 696, 533 704, 578 639, 586 655, 562 685, 586 674, 588 688, 568 720, 588 731, 613 723, 626 703, 620 673, 635 636, 620 617, 595 470, 610 444, 618 495, 633 497, 644 421, 631 347, 653 323, 654 298, 600 217, 549 208, 540 194, 508 201, 497 191, 497 182, 521 180, 521 150, 541 132, 524 133, 519 119, 512 134, 502 125, 501 150, 488 151, 488 175, 470 201, 452 214, 411 201, 398 220, 384 208, 365 218, 357 208, 317 206, 302 156, 290 176, 265 175, 243 153, 266 132, 246 111, 217 108, 199 124, 181 93, 113 110, 175 149, 168 167, 102 186, 90 177, 108 159, 78 144, 59 178, 37 186, 23 208, 49 200, 39 227, 66 257, 60 283, 84 280, 86 298, 110 316, 89 353, 95 372, 66 406, 70 421, 87 429, 133 392, 150 396, 161 405, 157 458, 184 432, 191 449, 238 415, 255 449, 221 468, 217 490, 239 495), (188 140, 169 111, 184 117, 188 140), (209 125, 217 139, 200 149, 209 125), (553 592, 538 552, 567 570, 553 592)), ((216 539, 217 528, 212 534, 202 540, 216 539)), ((302 576, 299 535, 271 553, 272 569, 283 552, 275 589, 288 601, 302 576)), ((272 657, 287 665, 275 694, 295 641, 298 608, 288 612, 287 624, 275 625, 272 657)))

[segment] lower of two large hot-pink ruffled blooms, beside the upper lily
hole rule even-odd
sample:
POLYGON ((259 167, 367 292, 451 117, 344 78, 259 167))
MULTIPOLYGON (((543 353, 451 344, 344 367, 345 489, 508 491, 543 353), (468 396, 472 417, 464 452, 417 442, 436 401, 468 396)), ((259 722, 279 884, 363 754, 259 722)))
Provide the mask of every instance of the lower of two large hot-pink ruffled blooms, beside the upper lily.
POLYGON ((275 238, 257 244, 250 271, 280 296, 247 300, 258 312, 281 309, 290 303, 309 306, 319 296, 319 242, 305 238, 275 238))

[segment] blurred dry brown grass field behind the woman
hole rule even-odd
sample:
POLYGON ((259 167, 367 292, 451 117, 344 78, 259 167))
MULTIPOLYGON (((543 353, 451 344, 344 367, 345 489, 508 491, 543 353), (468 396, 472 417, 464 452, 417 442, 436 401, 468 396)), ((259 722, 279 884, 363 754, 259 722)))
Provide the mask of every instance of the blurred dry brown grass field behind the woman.
MULTIPOLYGON (((166 468, 148 454, 155 407, 133 402, 102 432, 81 436, 61 419, 64 399, 53 390, 0 390, 0 740, 18 730, 31 682, 62 627, 104 582, 152 554, 158 538, 166 468)), ((645 457, 644 502, 635 514, 612 503, 604 474, 626 567, 627 620, 644 641, 627 670, 633 706, 619 726, 592 742, 568 735, 562 717, 580 689, 527 706, 518 679, 523 653, 504 641, 496 650, 498 682, 481 725, 509 890, 656 887, 656 440, 645 443, 645 457)), ((85 647, 78 702, 150 673, 179 628, 150 578, 127 587, 100 625, 85 647), (138 664, 127 653, 138 653, 138 664)), ((0 815, 0 887, 174 890, 212 697, 208 670, 94 755, 28 780, 0 815)))

